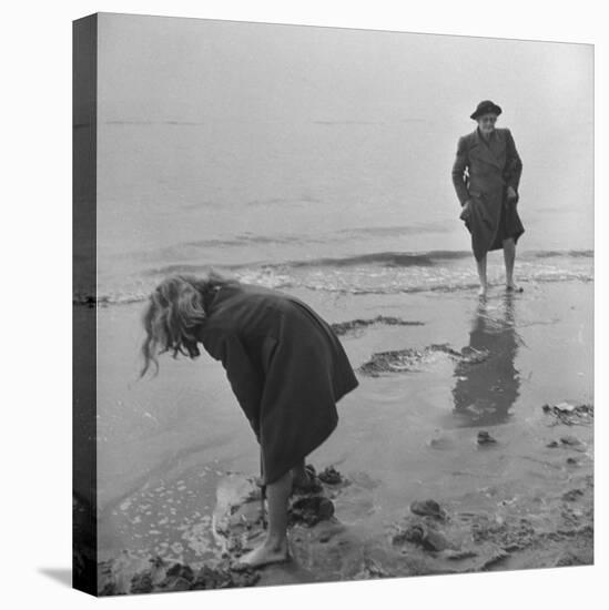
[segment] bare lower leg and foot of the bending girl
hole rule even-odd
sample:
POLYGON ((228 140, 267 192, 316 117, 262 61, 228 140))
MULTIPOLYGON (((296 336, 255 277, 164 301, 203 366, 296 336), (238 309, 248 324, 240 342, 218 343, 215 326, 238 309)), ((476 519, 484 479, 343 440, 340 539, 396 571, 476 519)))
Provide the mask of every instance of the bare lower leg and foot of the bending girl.
POLYGON ((238 563, 260 568, 278 563, 288 558, 287 548, 287 498, 292 492, 292 471, 288 470, 275 482, 266 486, 268 505, 268 531, 266 540, 253 551, 238 559, 238 563))

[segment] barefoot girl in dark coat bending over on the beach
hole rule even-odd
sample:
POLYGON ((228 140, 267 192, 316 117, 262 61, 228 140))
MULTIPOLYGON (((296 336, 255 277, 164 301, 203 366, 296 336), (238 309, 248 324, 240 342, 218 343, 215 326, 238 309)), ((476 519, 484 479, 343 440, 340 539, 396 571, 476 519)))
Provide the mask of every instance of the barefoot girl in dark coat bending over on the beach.
POLYGON ((211 272, 171 275, 150 295, 142 322, 142 377, 164 352, 196 358, 199 343, 226 370, 261 447, 268 501, 263 545, 240 563, 285 561, 287 500, 311 481, 305 457, 335 429, 336 403, 358 382, 332 327, 294 296, 211 272))

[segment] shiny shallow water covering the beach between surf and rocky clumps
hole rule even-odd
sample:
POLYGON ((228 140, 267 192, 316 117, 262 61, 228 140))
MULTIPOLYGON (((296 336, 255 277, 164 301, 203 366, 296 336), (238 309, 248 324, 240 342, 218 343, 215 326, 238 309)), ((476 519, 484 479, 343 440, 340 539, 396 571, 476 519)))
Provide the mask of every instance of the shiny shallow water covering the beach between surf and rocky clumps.
MULTIPOLYGON (((415 370, 357 370, 361 386, 339 403, 337 430, 311 456, 317 467, 336 465, 368 481, 364 494, 337 504, 343 522, 380 532, 414 499, 470 491, 474 509, 491 485, 541 492, 567 485, 569 469, 548 462, 552 430, 541 406, 593 401, 590 282, 531 282, 512 297, 496 286, 484 306, 473 289, 294 294, 329 322, 382 314, 423 323, 343 335, 356 369, 373 353, 433 344, 489 353, 469 367, 435 353, 415 370), (498 444, 478 446, 479 429, 498 444)), ((140 304, 126 304, 98 313, 101 557, 128 548, 203 560, 217 552, 211 518, 219 481, 230 471, 255 476, 257 447, 222 367, 205 354, 194 362, 166 357, 159 377, 134 382, 139 312, 140 304)))

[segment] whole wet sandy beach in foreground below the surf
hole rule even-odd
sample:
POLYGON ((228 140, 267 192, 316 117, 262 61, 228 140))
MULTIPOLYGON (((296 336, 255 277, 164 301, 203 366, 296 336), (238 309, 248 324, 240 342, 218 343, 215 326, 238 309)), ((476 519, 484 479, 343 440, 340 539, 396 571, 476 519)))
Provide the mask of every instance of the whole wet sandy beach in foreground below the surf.
MULTIPOLYGON (((361 380, 309 459, 348 485, 326 486, 331 520, 291 529, 292 562, 217 582, 592 562, 593 411, 544 409, 593 404, 591 283, 530 283, 510 297, 497 286, 483 305, 474 291, 295 294, 337 325, 361 380), (410 510, 429 499, 443 518, 410 510)), ((160 377, 131 383, 138 315, 135 305, 99 312, 99 559, 104 582, 123 575, 123 592, 154 557, 193 575, 225 565, 214 522, 222 507, 244 506, 258 464, 205 354, 165 358, 160 377)))

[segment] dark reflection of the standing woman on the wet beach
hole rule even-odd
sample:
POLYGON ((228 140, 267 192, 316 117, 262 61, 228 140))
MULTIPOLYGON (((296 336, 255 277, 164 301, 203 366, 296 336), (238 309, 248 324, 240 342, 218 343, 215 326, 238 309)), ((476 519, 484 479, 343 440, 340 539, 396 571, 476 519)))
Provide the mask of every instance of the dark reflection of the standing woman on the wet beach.
POLYGON ((453 400, 464 426, 501 424, 519 395, 520 377, 514 366, 521 338, 515 328, 515 299, 506 295, 498 312, 489 314, 480 302, 469 334, 469 347, 488 352, 479 364, 458 363, 455 367, 453 400))

